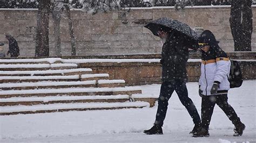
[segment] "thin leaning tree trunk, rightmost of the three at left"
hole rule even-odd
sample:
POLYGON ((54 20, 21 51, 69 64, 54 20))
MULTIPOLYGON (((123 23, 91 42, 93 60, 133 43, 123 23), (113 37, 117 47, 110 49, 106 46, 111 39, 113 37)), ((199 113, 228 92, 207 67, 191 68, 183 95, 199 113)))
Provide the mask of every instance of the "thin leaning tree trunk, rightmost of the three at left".
POLYGON ((71 56, 76 56, 76 39, 75 39, 75 34, 74 34, 74 27, 71 19, 71 14, 70 14, 70 8, 69 5, 64 4, 65 9, 66 9, 66 14, 68 16, 68 21, 69 21, 69 35, 71 39, 71 56))

